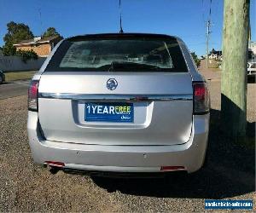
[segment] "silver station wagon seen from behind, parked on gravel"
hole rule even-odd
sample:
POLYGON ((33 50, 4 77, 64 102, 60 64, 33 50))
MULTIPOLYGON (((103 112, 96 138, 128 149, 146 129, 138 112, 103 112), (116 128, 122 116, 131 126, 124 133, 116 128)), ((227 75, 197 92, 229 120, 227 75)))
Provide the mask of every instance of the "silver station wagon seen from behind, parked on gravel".
POLYGON ((123 175, 199 170, 207 84, 178 37, 111 33, 55 46, 28 91, 35 163, 123 175))

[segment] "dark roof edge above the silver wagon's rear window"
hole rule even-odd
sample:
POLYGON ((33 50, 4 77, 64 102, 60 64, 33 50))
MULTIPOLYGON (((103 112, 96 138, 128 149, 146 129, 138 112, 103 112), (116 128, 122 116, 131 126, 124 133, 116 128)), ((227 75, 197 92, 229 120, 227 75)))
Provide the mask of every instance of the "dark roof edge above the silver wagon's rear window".
POLYGON ((156 34, 156 33, 138 33, 138 32, 129 32, 129 33, 99 33, 99 34, 85 34, 74 37, 67 37, 68 41, 78 41, 83 39, 93 39, 93 38, 111 38, 111 37, 151 37, 151 38, 168 38, 168 39, 177 39, 178 37, 169 36, 166 34, 156 34))

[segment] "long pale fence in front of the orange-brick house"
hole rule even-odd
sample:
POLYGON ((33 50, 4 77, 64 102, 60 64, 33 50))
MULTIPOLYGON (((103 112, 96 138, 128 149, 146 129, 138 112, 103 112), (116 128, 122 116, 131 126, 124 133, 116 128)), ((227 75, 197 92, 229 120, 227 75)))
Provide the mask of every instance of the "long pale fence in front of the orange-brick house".
POLYGON ((0 70, 14 72, 38 70, 45 59, 46 57, 39 57, 38 60, 27 60, 25 63, 19 56, 0 56, 0 70))

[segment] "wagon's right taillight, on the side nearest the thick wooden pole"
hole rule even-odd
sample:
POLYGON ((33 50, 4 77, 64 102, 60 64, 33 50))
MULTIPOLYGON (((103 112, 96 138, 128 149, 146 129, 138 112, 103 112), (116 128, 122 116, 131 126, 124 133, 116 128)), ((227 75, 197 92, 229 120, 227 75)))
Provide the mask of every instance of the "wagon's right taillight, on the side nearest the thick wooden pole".
POLYGON ((206 114, 210 111, 210 96, 207 83, 194 82, 194 114, 206 114))

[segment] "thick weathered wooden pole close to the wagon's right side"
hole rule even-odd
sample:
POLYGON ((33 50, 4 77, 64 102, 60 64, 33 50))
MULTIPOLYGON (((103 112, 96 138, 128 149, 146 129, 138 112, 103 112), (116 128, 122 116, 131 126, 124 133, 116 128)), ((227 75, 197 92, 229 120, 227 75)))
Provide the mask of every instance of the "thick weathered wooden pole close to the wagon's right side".
POLYGON ((235 141, 247 126, 247 52, 250 0, 224 0, 221 120, 235 141))

